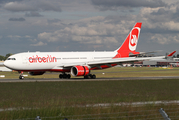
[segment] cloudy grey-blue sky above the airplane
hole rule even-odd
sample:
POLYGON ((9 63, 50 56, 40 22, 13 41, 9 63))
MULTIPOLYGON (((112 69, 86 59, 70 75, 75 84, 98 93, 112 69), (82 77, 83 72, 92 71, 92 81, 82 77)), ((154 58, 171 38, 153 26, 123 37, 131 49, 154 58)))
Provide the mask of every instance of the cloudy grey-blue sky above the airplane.
POLYGON ((0 55, 112 51, 136 22, 138 51, 179 51, 176 0, 0 0, 0 55))

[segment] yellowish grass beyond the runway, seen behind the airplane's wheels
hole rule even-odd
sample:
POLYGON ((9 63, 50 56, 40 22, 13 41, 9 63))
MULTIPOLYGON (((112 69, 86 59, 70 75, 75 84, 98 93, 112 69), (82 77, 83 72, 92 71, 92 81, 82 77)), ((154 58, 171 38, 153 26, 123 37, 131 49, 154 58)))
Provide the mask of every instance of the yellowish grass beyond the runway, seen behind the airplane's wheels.
MULTIPOLYGON (((148 76, 179 76, 179 68, 158 68, 158 67, 113 67, 104 70, 93 70, 92 74, 96 74, 97 78, 115 78, 115 77, 148 77, 148 76)), ((28 74, 28 73, 24 73, 28 74)), ((44 75, 30 76, 27 78, 58 78, 60 73, 47 72, 44 75)), ((0 79, 18 79, 18 72, 0 72, 5 78, 0 79)), ((73 76, 72 76, 73 78, 73 76)))

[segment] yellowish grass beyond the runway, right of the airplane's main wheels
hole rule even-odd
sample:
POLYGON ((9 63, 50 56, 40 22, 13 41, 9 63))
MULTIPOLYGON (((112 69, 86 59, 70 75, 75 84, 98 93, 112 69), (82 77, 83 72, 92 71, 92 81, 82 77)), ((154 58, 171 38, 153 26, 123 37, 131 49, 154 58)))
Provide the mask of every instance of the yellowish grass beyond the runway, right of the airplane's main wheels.
POLYGON ((116 67, 92 72, 94 72, 98 78, 179 76, 179 68, 116 67))

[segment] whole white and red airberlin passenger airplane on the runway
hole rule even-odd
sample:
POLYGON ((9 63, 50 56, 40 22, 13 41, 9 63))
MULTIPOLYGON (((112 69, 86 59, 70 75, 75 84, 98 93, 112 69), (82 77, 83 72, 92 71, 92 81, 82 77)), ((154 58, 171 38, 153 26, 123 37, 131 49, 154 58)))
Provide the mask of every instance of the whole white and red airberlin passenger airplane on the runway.
POLYGON ((95 79, 96 75, 91 74, 91 70, 110 68, 126 62, 165 58, 165 56, 136 57, 139 54, 145 54, 136 51, 141 26, 142 23, 137 22, 123 44, 114 51, 24 52, 8 57, 4 65, 20 72, 19 79, 24 79, 23 72, 29 72, 30 75, 43 75, 46 71, 61 72, 60 79, 70 79, 71 75, 95 79))

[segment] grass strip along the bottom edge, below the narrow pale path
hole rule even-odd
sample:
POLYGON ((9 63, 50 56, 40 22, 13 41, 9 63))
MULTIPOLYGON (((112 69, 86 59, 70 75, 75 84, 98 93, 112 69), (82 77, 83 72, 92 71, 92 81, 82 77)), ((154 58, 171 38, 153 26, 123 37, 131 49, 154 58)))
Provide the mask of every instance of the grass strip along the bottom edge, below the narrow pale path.
POLYGON ((29 120, 28 118, 34 120, 37 115, 41 116, 42 120, 63 120, 64 118, 68 118, 69 120, 99 120, 102 118, 102 120, 163 120, 164 118, 159 113, 160 108, 165 108, 165 111, 168 113, 168 115, 170 115, 171 119, 179 118, 178 112, 176 112, 178 110, 176 105, 146 105, 143 107, 112 106, 110 108, 43 108, 0 112, 0 117, 1 120, 29 120))

